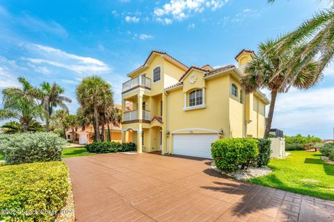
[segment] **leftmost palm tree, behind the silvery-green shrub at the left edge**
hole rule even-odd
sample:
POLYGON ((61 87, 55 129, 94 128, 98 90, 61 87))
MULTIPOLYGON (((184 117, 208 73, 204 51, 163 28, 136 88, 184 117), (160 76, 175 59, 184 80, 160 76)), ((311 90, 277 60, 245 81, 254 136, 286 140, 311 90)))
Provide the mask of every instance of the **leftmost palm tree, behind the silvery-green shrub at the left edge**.
POLYGON ((28 132, 29 125, 35 117, 41 117, 42 108, 35 101, 38 89, 25 78, 18 78, 22 87, 3 89, 3 109, 0 110, 0 120, 17 119, 22 124, 23 132, 28 132))

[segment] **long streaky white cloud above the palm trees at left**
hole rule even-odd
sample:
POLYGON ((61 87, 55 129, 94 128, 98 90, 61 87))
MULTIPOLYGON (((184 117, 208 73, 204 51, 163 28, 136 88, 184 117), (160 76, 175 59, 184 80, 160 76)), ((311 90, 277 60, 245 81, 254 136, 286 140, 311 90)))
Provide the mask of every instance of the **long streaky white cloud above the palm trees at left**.
MULTIPOLYGON (((22 58, 34 65, 51 65, 76 72, 77 74, 102 74, 111 71, 104 62, 95 58, 77 56, 40 44, 25 44, 26 49, 39 58, 22 58)), ((40 68, 41 69, 41 68, 40 68)), ((42 68, 43 70, 44 68, 42 68)), ((46 70, 46 69, 44 69, 46 70)))

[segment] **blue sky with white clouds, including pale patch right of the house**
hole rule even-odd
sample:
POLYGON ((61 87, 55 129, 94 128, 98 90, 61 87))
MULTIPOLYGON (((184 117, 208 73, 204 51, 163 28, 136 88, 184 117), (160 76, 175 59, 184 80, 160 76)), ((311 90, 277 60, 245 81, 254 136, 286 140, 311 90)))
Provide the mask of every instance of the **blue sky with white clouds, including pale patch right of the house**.
MULTIPOLYGON (((328 1, 95 0, 0 1, 0 89, 24 76, 58 83, 73 99, 81 78, 99 75, 120 103, 126 74, 152 49, 186 65, 235 64, 241 49, 287 33, 328 1)), ((334 67, 307 91, 279 95, 273 127, 287 135, 333 137, 334 67)))

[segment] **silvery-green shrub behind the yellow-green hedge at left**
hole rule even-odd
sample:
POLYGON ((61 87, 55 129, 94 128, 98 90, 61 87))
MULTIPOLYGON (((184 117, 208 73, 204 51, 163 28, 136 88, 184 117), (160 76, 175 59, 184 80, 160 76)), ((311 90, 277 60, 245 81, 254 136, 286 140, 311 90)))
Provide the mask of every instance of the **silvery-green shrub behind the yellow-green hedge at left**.
POLYGON ((65 139, 54 133, 19 133, 2 135, 0 151, 6 164, 61 160, 65 139))

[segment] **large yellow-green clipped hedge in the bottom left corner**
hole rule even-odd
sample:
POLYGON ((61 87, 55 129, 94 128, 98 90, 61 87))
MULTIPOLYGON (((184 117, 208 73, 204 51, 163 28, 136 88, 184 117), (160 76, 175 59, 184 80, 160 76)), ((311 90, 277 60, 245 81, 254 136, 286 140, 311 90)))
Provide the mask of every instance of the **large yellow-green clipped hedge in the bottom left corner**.
POLYGON ((54 221, 70 189, 60 161, 3 166, 0 175, 0 221, 54 221))

